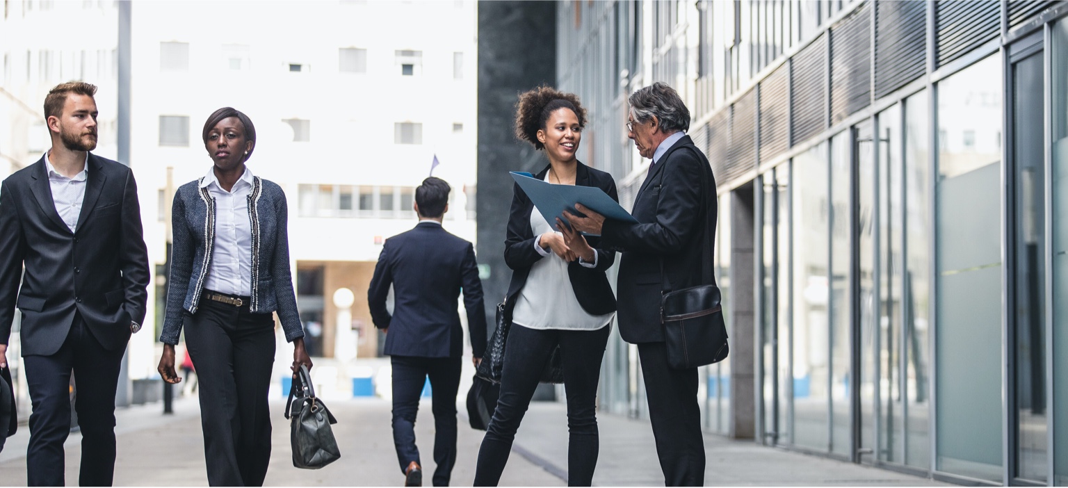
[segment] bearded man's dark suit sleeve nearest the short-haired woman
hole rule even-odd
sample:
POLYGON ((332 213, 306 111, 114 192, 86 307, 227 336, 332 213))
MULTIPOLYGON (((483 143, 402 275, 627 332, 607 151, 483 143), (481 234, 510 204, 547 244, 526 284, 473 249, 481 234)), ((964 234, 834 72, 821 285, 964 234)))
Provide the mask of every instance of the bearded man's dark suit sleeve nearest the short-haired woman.
POLYGON ((148 301, 148 249, 144 245, 141 229, 141 205, 137 198, 137 182, 134 172, 126 171, 123 189, 122 236, 119 243, 119 267, 125 282, 123 308, 130 314, 130 320, 144 322, 145 306, 148 301))

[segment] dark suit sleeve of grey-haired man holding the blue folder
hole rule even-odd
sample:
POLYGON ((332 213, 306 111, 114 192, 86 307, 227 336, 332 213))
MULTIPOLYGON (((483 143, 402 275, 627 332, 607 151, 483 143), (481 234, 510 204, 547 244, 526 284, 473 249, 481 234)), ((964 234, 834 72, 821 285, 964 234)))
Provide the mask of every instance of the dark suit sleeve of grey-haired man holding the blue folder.
POLYGON ((644 190, 655 191, 655 185, 663 178, 657 195, 656 221, 635 224, 606 220, 601 229, 604 246, 621 251, 674 254, 702 229, 695 220, 704 215, 701 211, 704 163, 692 152, 677 149, 663 164, 668 166, 644 190))

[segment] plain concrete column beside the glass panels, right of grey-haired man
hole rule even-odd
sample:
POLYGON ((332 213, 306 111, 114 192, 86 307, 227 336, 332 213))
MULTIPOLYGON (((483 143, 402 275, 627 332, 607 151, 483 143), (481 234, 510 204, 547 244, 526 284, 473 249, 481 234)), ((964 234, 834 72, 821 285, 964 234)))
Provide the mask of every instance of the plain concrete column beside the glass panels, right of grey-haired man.
POLYGON ((727 334, 731 336, 731 418, 727 435, 732 439, 752 439, 756 420, 755 375, 755 282, 753 187, 739 188, 731 199, 731 290, 727 334))

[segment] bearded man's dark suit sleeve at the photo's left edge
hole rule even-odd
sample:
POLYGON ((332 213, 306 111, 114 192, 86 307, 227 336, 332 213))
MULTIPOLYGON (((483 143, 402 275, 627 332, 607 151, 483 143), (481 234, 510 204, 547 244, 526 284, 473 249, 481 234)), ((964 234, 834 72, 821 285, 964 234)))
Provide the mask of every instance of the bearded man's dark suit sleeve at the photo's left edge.
POLYGON ((3 345, 11 337, 25 256, 26 238, 18 220, 18 209, 11 187, 4 182, 0 187, 0 344, 3 345))

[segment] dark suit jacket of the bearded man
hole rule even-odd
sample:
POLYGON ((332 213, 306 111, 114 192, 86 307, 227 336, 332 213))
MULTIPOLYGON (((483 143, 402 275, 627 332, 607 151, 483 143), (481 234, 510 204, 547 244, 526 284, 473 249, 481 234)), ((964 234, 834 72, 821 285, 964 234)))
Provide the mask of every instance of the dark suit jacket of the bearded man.
POLYGON ((126 347, 131 320, 144 321, 148 254, 134 173, 94 154, 88 166, 75 233, 56 211, 44 157, 0 188, 0 343, 17 304, 23 356, 59 350, 75 312, 109 350, 126 347))

